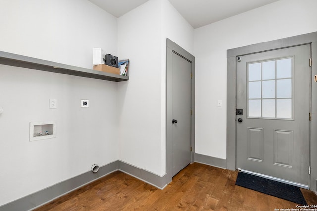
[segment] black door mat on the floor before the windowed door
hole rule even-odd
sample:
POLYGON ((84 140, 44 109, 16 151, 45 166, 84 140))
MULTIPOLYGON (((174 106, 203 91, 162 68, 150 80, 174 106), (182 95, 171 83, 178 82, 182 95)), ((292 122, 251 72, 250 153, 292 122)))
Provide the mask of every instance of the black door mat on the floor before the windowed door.
POLYGON ((301 205, 307 205, 299 187, 239 172, 236 185, 275 196, 301 205))

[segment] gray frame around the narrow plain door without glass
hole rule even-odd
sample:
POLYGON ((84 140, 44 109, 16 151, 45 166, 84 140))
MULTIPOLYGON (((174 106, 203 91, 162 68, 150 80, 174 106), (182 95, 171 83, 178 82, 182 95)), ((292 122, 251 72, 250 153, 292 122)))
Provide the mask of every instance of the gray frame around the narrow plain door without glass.
POLYGON ((172 80, 172 55, 173 53, 185 58, 192 64, 192 118, 191 118, 191 163, 194 162, 195 152, 195 57, 170 39, 166 39, 166 183, 172 181, 172 92, 168 90, 172 80))

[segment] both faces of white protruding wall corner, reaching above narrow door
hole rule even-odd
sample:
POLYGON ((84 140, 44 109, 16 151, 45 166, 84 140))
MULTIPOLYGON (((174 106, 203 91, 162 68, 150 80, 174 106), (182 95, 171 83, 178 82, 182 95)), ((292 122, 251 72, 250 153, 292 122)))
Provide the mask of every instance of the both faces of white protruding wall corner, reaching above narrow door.
POLYGON ((194 30, 168 0, 150 0, 118 18, 118 53, 129 81, 118 84, 120 159, 166 172, 166 38, 193 52, 194 30))

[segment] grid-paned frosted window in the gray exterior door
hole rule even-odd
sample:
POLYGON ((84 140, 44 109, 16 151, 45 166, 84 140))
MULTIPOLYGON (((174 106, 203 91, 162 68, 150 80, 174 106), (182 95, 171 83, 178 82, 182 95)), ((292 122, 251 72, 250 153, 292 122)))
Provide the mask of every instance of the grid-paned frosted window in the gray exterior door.
POLYGON ((293 58, 247 64, 248 117, 293 119, 293 58))

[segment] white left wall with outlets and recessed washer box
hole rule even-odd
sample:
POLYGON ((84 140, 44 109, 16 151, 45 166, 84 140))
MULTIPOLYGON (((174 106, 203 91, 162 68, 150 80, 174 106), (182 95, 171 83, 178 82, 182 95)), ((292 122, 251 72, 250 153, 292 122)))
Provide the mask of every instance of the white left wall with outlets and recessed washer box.
MULTIPOLYGON (((116 18, 87 0, 0 5, 0 51, 85 68, 93 47, 117 54, 116 18)), ((0 106, 0 205, 118 159, 116 82, 0 65, 0 106), (38 121, 55 121, 57 137, 29 142, 38 121)))

